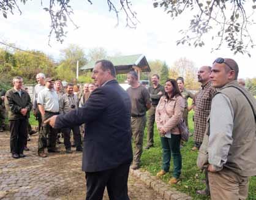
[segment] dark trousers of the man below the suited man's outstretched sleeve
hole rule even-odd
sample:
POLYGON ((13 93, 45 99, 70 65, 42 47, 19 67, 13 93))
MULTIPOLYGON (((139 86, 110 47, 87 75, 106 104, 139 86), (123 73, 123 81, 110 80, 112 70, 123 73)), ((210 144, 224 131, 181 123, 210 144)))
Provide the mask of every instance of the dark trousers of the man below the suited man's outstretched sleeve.
POLYGON ((73 131, 73 139, 75 141, 75 147, 81 146, 81 134, 80 134, 80 127, 69 127, 69 128, 62 128, 62 133, 64 135, 64 145, 66 149, 71 148, 70 143, 70 132, 73 131))

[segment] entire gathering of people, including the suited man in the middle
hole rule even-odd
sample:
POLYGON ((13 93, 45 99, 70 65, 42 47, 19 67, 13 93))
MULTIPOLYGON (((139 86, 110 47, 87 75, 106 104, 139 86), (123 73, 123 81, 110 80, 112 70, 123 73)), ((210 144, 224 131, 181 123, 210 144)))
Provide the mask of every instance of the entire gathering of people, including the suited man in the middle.
MULTIPOLYGON (((21 89, 22 78, 15 77, 13 89, 6 92, 5 98, 12 155, 24 157, 26 136, 21 132, 33 108, 41 127, 40 157, 47 157, 45 148, 48 152, 58 152, 56 138, 61 131, 66 152, 72 152, 72 130, 76 150, 83 150, 86 199, 102 199, 105 187, 110 199, 129 199, 129 168, 140 168, 146 120, 148 135, 144 149, 154 147, 156 122, 162 144, 162 170, 157 176, 164 176, 169 171, 173 157, 169 182, 175 184, 182 169, 179 123, 184 119, 188 126, 187 115, 194 109, 192 150, 207 150, 204 154, 207 155, 204 165, 206 189, 197 193, 218 200, 246 199, 249 177, 256 176, 256 104, 255 98, 238 84, 238 72, 238 64, 233 59, 219 57, 212 66, 200 67, 197 76, 201 89, 192 94, 184 88, 183 77, 168 79, 165 86, 161 86, 160 77, 155 74, 151 77, 152 86, 146 89, 138 82, 137 73, 132 71, 127 74, 130 87, 124 91, 116 81, 114 65, 100 60, 92 71, 94 89, 85 84, 80 94, 74 94, 74 86, 69 83, 65 94, 58 95, 61 91, 58 82, 43 74, 37 75, 39 84, 35 87, 33 104, 21 89), (191 106, 187 103, 188 98, 193 99, 191 106), (17 102, 19 104, 15 105, 17 102), (80 130, 84 131, 83 147, 80 130)), ((198 159, 202 159, 200 155, 198 159)))

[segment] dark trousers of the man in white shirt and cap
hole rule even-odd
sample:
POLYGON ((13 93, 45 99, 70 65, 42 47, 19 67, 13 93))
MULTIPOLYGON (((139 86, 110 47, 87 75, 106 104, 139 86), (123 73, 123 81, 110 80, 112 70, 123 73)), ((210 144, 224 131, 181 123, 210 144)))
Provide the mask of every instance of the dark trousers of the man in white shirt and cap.
MULTIPOLYGON (((56 114, 59 113, 45 112, 45 115, 43 116, 43 121, 56 114)), ((56 137, 58 131, 58 129, 51 127, 49 124, 42 123, 38 138, 38 152, 43 152, 46 147, 48 148, 48 150, 56 148, 56 137)))

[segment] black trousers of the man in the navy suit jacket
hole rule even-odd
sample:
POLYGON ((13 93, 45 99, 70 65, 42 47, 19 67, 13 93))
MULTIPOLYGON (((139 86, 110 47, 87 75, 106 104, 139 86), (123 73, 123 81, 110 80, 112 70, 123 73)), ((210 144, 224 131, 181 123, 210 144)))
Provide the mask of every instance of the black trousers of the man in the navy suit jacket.
POLYGON ((110 200, 129 200, 127 181, 130 163, 99 172, 86 172, 86 200, 100 200, 107 187, 110 200))

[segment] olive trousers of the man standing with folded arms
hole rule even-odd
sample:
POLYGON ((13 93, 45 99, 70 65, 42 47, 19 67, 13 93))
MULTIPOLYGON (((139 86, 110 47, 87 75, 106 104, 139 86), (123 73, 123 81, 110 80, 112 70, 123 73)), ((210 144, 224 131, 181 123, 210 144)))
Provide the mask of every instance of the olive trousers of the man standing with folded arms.
POLYGON ((148 146, 154 145, 154 122, 155 122, 156 106, 152 105, 148 110, 148 146))

